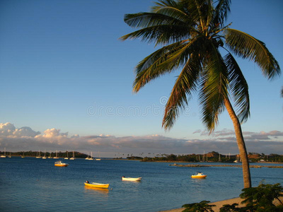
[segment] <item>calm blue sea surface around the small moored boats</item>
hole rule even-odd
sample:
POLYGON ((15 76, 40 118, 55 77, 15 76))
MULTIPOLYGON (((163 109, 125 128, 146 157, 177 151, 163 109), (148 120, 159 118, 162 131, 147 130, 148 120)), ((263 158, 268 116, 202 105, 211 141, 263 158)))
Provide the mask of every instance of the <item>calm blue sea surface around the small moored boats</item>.
MULTIPOLYGON (((183 204, 230 199, 241 194, 238 167, 174 167, 172 163, 132 160, 65 160, 0 158, 0 211, 161 211, 183 204), (206 179, 191 179, 196 171, 206 179), (122 182, 121 177, 142 177, 122 182), (89 189, 83 182, 110 183, 110 189, 89 189)), ((217 164, 217 163, 213 163, 217 164)), ((264 165, 264 164, 260 164, 264 165)), ((270 164, 268 164, 270 165, 270 164)), ((283 169, 253 168, 253 186, 283 185, 283 169)))

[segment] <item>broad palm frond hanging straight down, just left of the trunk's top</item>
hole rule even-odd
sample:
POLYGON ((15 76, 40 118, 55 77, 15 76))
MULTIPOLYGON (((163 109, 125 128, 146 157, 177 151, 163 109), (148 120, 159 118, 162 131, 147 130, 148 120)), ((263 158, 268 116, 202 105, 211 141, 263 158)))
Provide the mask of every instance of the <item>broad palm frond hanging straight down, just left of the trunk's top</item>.
POLYGON ((202 122, 212 132, 218 124, 219 114, 224 110, 224 100, 229 93, 228 73, 223 58, 213 44, 209 46, 201 76, 200 105, 202 122))

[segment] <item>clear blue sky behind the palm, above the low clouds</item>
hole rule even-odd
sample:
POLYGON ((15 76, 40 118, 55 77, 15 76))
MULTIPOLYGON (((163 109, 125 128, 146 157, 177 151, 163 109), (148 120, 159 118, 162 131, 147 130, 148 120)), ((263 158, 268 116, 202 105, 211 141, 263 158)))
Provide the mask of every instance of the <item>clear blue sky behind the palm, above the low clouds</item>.
MULTIPOLYGON (((123 21, 125 13, 149 11, 150 6, 152 1, 147 0, 1 0, 0 123, 11 123, 15 126, 12 131, 28 126, 30 129, 25 128, 25 131, 32 130, 33 135, 40 132, 37 137, 63 136, 70 140, 74 135, 80 138, 99 135, 104 138, 109 135, 108 139, 115 139, 108 145, 104 145, 105 142, 105 148, 101 147, 100 142, 91 146, 105 152, 115 151, 108 147, 129 137, 132 139, 127 141, 128 144, 144 138, 149 141, 155 141, 156 137, 165 138, 160 140, 160 146, 166 146, 162 142, 175 140, 175 143, 195 141, 196 145, 211 139, 219 141, 219 137, 205 134, 197 96, 171 131, 161 128, 163 100, 170 94, 178 71, 149 83, 137 94, 132 93, 134 66, 156 48, 139 40, 122 42, 118 38, 133 30, 123 21), (45 133, 47 129, 54 129, 56 133, 51 136, 45 133)), ((265 42, 281 66, 282 6, 279 0, 232 1, 231 15, 227 21, 233 22, 231 28, 265 42)), ((238 64, 248 81, 251 102, 251 117, 243 124, 243 131, 254 135, 270 135, 270 132, 277 131, 277 136, 254 141, 277 142, 275 150, 282 153, 282 77, 270 82, 253 62, 239 59, 238 64)), ((5 131, 8 125, 3 124, 2 131, 5 131)), ((231 120, 224 112, 216 131, 231 130, 231 120)), ((9 136, 11 139, 14 135, 9 136)), ((6 146, 15 151, 16 148, 52 148, 41 140, 38 145, 35 142, 33 146, 30 143, 26 143, 25 147, 17 146, 16 141, 20 137, 13 137, 18 139, 13 141, 12 148, 3 133, 0 147, 6 146)), ((59 145, 59 140, 55 138, 54 143, 59 145)), ((66 141, 69 148, 75 148, 69 140, 66 141)), ((229 141, 233 142, 233 138, 229 141)), ((78 140, 76 148, 81 148, 80 142, 84 145, 83 141, 78 140)), ((63 150, 68 146, 57 148, 63 150)), ((117 146, 117 151, 139 152, 142 148, 141 142, 137 148, 117 146)), ((142 150, 154 151, 152 148, 144 144, 142 150)), ((254 149, 250 147, 248 151, 254 149)), ((207 147, 205 151, 221 150, 219 146, 217 149, 207 147)), ((84 151, 83 148, 81 151, 84 151)), ((170 153, 171 148, 164 148, 163 151, 170 153)), ((176 148, 174 151, 179 153, 197 149, 176 148)), ((273 149, 262 149, 262 152, 265 151, 270 153, 268 151, 273 149)))

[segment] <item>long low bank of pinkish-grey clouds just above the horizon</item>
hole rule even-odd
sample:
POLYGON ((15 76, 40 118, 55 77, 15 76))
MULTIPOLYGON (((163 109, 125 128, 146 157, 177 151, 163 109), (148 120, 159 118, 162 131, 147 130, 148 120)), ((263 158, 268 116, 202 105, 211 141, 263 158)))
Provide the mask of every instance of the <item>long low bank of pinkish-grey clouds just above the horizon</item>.
MULTIPOLYGON (((69 136, 60 129, 46 129, 43 133, 28 126, 16 128, 13 124, 0 123, 1 151, 80 151, 103 153, 173 153, 190 154, 216 151, 221 154, 236 154, 238 146, 234 131, 222 129, 209 135, 196 130, 192 136, 199 139, 175 139, 161 135, 122 136, 92 135, 69 136), (200 139, 203 138, 203 139, 200 139)), ((243 131, 248 152, 283 154, 283 131, 243 131)))

